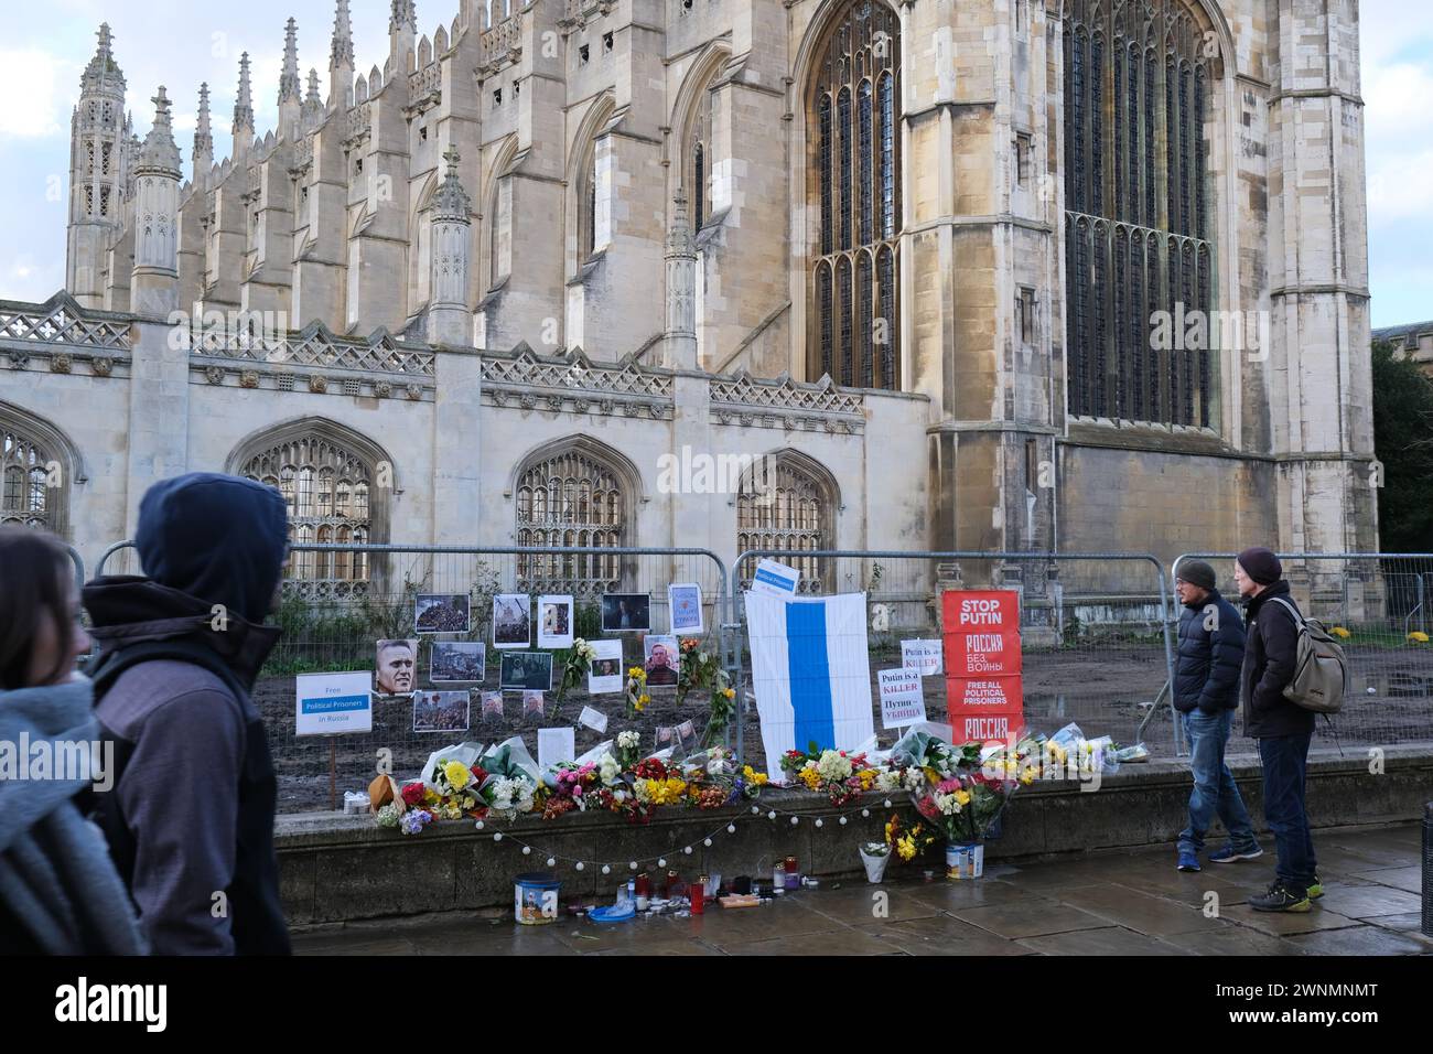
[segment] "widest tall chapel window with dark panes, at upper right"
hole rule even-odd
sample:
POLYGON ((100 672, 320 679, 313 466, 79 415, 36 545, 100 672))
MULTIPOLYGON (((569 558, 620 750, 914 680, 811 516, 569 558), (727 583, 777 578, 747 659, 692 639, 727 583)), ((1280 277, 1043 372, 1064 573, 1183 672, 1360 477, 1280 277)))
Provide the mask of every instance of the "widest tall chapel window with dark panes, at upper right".
POLYGON ((1181 317, 1214 307, 1204 123, 1215 59, 1184 0, 1066 10, 1070 413, 1209 427, 1212 338, 1182 340, 1181 317))

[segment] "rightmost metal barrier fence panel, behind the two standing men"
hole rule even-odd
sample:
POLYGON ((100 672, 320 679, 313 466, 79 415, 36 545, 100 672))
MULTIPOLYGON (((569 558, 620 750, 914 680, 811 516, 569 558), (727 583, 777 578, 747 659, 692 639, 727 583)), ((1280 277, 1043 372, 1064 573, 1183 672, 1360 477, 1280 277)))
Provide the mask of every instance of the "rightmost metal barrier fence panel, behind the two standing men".
MULTIPOLYGON (((1234 552, 1187 552, 1209 561, 1238 604, 1234 552)), ((1348 694, 1315 737, 1360 747, 1433 740, 1433 554, 1281 552, 1298 609, 1341 638, 1348 694), (1423 638, 1419 638, 1419 634, 1423 638)))

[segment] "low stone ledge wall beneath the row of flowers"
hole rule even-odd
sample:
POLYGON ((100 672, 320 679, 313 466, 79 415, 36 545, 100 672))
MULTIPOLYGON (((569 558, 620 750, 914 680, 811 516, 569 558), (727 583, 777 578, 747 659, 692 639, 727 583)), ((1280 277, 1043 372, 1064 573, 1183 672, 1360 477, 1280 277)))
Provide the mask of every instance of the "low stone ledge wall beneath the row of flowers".
MULTIPOLYGON (((1230 757, 1250 812, 1261 817, 1257 759, 1230 757)), ((1185 822, 1189 774, 1179 761, 1126 766, 1105 777, 1099 790, 1080 790, 1073 780, 1023 787, 1006 816, 1005 833, 987 846, 990 859, 1022 860, 1095 849, 1172 843, 1185 822)), ((1381 826, 1416 819, 1433 797, 1433 747, 1389 747, 1384 773, 1369 773, 1364 753, 1315 751, 1310 759, 1308 804, 1314 826, 1381 826)), ((381 830, 367 816, 298 813, 277 823, 284 909, 292 925, 340 922, 431 911, 476 911, 512 899, 512 879, 540 870, 546 853, 569 860, 618 865, 610 875, 598 866, 576 872, 559 868, 566 892, 610 895, 629 873, 625 860, 666 856, 684 875, 770 875, 775 860, 795 855, 805 873, 847 878, 860 872, 856 845, 881 837, 890 812, 914 817, 906 796, 867 794, 833 809, 824 794, 775 790, 758 804, 798 812, 791 825, 754 816, 749 806, 711 812, 658 812, 651 823, 629 825, 612 815, 566 815, 557 820, 524 817, 512 825, 438 823, 423 835, 381 830), (870 809, 863 817, 860 809, 870 809), (856 810, 853 813, 853 809, 856 810), (838 816, 848 816, 840 826, 838 816), (823 819, 823 827, 814 820, 823 819), (728 823, 737 833, 728 835, 728 823), (496 832, 503 842, 493 842, 496 832), (712 836, 708 849, 702 839, 712 836), (523 856, 520 846, 533 845, 523 856), (684 853, 692 846, 692 853, 684 853)), ((651 866, 651 865, 648 865, 651 866)))

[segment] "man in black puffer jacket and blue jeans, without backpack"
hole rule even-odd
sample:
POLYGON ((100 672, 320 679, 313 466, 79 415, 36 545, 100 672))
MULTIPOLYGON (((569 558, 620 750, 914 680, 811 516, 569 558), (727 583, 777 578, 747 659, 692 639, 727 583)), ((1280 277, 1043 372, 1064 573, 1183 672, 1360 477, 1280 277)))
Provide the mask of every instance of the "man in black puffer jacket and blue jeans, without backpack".
POLYGON ((1179 617, 1179 661, 1174 674, 1174 708, 1182 714, 1189 740, 1189 826, 1179 832, 1179 870, 1199 870, 1204 836, 1218 816, 1230 843, 1209 853, 1212 863, 1251 860, 1264 850, 1224 763, 1224 749, 1240 704, 1244 663, 1244 621, 1215 588, 1214 568, 1204 561, 1179 564, 1175 591, 1184 604, 1179 617))

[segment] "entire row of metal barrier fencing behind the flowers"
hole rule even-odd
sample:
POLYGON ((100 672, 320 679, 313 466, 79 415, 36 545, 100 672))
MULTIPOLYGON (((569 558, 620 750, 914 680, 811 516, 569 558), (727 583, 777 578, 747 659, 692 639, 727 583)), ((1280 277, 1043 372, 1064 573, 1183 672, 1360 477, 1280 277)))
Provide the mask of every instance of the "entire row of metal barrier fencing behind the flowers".
MULTIPOLYGON (((522 694, 509 691, 500 697, 500 714, 484 714, 483 693, 499 691, 502 680, 503 651, 493 638, 493 599, 502 594, 529 597, 533 618, 537 597, 573 595, 575 635, 622 641, 619 673, 625 673, 646 658, 645 641, 671 635, 668 587, 696 585, 704 614, 701 647, 716 651, 737 690, 728 743, 741 760, 759 769, 765 751, 752 720, 742 588, 765 556, 800 569, 804 594, 867 595, 873 724, 883 746, 897 733, 881 730, 877 671, 901 664, 903 640, 940 640, 940 595, 946 589, 1005 588, 1020 597, 1027 727, 1055 731, 1075 721, 1091 737, 1109 734, 1119 743, 1144 741, 1155 754, 1179 754, 1182 730, 1172 708, 1165 710, 1179 611, 1169 582, 1182 561, 1209 559, 1225 579, 1221 585, 1227 595, 1237 599, 1234 554, 1185 554, 1166 574, 1149 554, 771 549, 741 554, 728 576, 722 561, 705 549, 294 545, 292 576, 271 617, 284 635, 255 687, 281 776, 281 809, 322 807, 331 769, 340 786, 365 786, 381 750, 391 751, 396 774, 408 776, 434 749, 457 739, 493 743, 527 733, 532 747, 535 730, 552 724, 576 726, 577 753, 629 728, 653 749, 665 744, 665 739, 658 741, 659 734, 665 737, 665 730, 686 721, 692 731, 702 731, 709 695, 696 691, 678 706, 675 688, 659 684, 651 685, 646 710, 631 717, 620 693, 589 695, 586 683, 566 693, 560 721, 553 720, 553 693, 546 694, 540 711, 526 711, 522 694), (645 622, 649 631, 615 630, 610 619, 603 628, 600 601, 615 594, 648 598, 646 619, 629 617, 628 624, 645 622), (466 628, 438 628, 454 624, 437 619, 420 630, 418 598, 428 595, 466 598, 466 628), (378 640, 418 641, 411 657, 416 690, 450 690, 441 668, 450 667, 451 677, 451 667, 457 667, 464 681, 451 690, 466 693, 466 711, 457 708, 461 697, 446 697, 437 700, 437 717, 421 717, 411 698, 378 695, 371 734, 327 743, 295 736, 294 674, 374 670, 378 640), (474 657, 464 655, 464 650, 441 648, 440 678, 434 681, 436 642, 483 642, 481 673, 466 665, 474 657), (605 733, 577 724, 577 714, 589 704, 606 714, 605 733)), ((77 554, 72 558, 76 572, 83 574, 77 554)), ((1433 628, 1433 555, 1287 554, 1283 559, 1301 608, 1348 634, 1344 647, 1353 667, 1353 693, 1331 731, 1350 744, 1433 740, 1433 645, 1410 637, 1433 628)), ((96 575, 125 572, 139 572, 128 542, 110 546, 96 568, 96 575)), ((535 637, 527 650, 539 650, 535 637)), ((557 678, 560 663, 559 654, 553 664, 557 678)), ((944 677, 926 678, 924 695, 929 718, 944 720, 944 677)), ((1318 734, 1328 731, 1320 723, 1318 734)))

